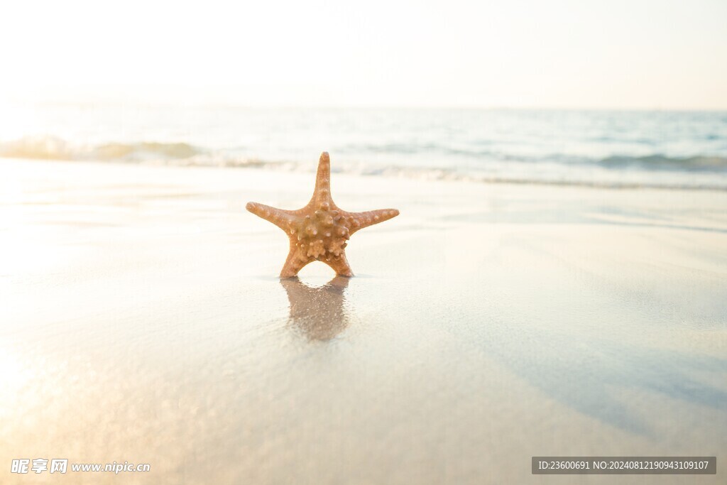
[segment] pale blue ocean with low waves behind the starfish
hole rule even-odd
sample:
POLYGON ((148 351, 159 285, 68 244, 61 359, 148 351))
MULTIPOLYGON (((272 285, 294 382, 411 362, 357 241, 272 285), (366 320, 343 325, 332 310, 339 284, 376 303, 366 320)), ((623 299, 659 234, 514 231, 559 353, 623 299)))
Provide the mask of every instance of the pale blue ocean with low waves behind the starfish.
POLYGON ((727 112, 45 104, 0 156, 473 182, 727 190, 727 112))

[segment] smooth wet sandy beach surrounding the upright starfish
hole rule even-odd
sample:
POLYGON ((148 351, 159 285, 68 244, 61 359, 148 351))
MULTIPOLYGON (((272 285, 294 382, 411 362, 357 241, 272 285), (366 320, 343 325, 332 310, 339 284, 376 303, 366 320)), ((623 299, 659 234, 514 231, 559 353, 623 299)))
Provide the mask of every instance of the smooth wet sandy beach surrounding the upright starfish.
POLYGON ((280 281, 288 241, 244 205, 312 189, 1 160, 0 483, 724 483, 727 192, 334 167, 340 207, 401 215, 353 236, 355 278, 280 281), (535 455, 718 475, 533 476, 535 455), (38 457, 150 472, 9 473, 38 457))

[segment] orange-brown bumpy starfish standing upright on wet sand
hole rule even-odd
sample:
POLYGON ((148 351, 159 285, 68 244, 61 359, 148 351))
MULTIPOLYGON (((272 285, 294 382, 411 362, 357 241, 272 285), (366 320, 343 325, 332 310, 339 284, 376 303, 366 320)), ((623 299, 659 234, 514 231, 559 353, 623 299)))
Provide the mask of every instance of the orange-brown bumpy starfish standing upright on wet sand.
POLYGON ((310 202, 298 210, 248 202, 246 209, 281 228, 290 239, 290 251, 281 278, 292 278, 311 261, 325 262, 338 276, 353 276, 344 249, 351 234, 399 215, 397 209, 346 212, 331 198, 331 159, 321 153, 316 188, 310 202))

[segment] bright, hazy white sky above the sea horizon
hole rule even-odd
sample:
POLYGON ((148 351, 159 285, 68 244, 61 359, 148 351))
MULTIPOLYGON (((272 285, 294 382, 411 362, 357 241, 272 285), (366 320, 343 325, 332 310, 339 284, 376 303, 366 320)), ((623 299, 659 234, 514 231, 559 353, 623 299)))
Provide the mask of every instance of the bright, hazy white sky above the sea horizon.
POLYGON ((727 1, 15 1, 0 101, 727 109, 727 1))

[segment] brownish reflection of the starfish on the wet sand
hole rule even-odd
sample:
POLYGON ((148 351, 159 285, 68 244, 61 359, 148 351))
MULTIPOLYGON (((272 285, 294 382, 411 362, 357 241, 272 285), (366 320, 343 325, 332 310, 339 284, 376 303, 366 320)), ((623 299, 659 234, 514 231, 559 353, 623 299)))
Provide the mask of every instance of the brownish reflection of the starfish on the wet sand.
POLYGON ((310 340, 331 340, 349 323, 343 293, 350 278, 336 276, 313 287, 299 278, 281 279, 290 301, 290 322, 310 340))

